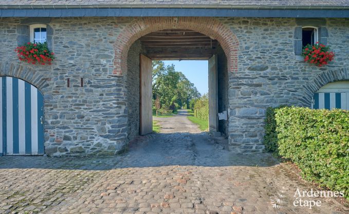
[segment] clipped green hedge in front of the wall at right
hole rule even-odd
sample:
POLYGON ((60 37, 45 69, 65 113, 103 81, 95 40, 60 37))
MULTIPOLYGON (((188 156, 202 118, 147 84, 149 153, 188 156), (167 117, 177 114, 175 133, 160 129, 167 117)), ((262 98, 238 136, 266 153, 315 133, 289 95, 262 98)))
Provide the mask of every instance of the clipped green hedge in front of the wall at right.
POLYGON ((349 111, 274 111, 279 154, 295 163, 306 180, 344 191, 349 199, 349 111))

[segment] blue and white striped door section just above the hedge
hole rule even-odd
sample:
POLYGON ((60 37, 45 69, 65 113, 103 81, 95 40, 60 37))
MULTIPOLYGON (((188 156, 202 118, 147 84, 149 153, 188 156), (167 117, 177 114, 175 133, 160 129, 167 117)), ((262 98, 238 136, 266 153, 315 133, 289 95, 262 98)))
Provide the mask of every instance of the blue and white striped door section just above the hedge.
POLYGON ((349 93, 347 92, 314 93, 313 109, 349 110, 349 93))

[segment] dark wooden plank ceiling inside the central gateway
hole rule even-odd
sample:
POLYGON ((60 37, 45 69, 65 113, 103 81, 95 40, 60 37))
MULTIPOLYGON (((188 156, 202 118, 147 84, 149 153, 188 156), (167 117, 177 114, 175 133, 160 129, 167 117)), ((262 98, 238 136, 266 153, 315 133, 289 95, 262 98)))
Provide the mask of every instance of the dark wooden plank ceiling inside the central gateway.
POLYGON ((207 60, 219 45, 207 35, 183 29, 160 30, 139 40, 153 60, 207 60))

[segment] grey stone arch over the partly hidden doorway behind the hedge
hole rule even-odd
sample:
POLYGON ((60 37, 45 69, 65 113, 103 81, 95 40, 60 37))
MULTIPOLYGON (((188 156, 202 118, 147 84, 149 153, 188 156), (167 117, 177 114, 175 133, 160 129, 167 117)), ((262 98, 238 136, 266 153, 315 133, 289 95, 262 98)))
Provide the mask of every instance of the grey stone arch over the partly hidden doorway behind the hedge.
POLYGON ((340 81, 340 80, 349 80, 349 67, 343 67, 339 69, 327 70, 315 76, 315 78, 305 86, 305 92, 307 94, 307 99, 304 100, 306 106, 311 106, 311 99, 315 92, 326 85, 327 83, 340 81))

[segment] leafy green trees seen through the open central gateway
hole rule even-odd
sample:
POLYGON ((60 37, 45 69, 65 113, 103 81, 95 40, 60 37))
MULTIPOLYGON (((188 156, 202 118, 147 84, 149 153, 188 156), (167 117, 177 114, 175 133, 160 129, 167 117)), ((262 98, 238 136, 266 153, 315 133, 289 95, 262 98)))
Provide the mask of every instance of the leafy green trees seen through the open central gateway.
POLYGON ((159 98, 161 109, 175 112, 199 96, 194 84, 176 72, 173 64, 165 66, 162 61, 153 61, 153 99, 159 98))

